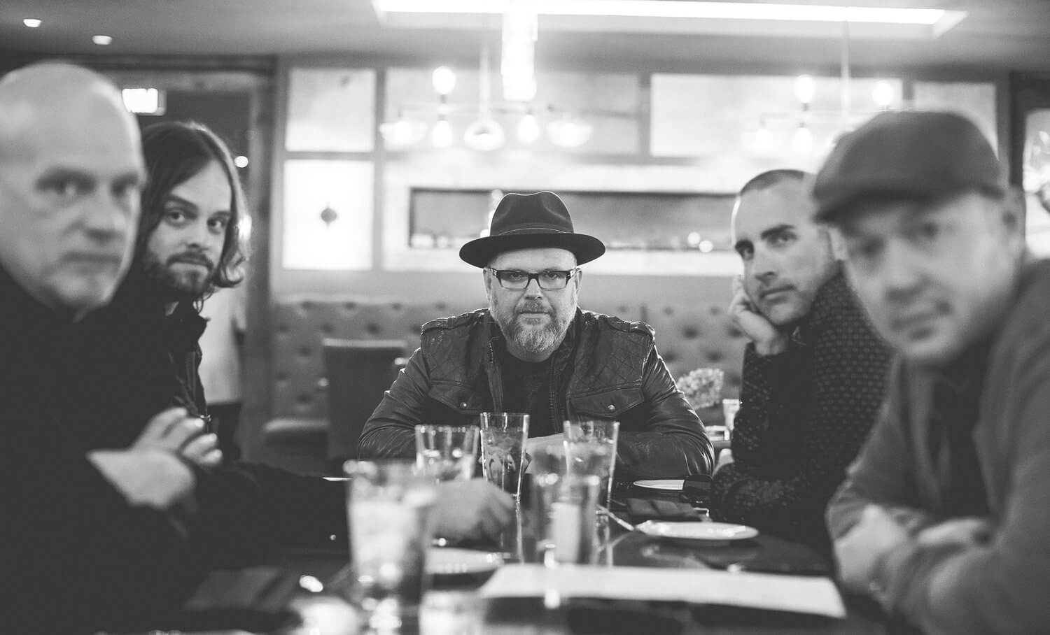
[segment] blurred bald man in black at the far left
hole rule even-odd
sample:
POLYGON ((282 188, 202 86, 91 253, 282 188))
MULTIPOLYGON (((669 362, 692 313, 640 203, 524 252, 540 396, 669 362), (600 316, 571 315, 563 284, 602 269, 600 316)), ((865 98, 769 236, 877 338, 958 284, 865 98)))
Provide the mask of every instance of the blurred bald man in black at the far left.
POLYGON ((51 408, 71 324, 105 304, 127 270, 143 181, 138 127, 108 82, 59 64, 0 81, 9 632, 93 632, 177 601, 197 576, 173 513, 193 488, 191 468, 160 449, 85 452, 51 408))

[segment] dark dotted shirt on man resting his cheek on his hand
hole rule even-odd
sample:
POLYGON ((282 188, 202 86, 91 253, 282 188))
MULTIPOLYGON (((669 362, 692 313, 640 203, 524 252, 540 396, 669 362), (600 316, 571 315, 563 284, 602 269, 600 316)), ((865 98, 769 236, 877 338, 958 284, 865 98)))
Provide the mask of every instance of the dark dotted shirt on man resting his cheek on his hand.
POLYGON ((878 415, 889 355, 841 273, 784 353, 759 356, 749 343, 735 463, 714 477, 714 517, 826 549, 824 507, 878 415))

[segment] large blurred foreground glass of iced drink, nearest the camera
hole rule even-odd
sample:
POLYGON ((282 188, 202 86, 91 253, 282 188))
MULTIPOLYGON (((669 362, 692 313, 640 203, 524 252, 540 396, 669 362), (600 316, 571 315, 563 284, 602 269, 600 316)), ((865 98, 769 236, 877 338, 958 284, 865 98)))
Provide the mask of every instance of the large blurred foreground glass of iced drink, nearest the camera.
POLYGON ((425 590, 434 479, 410 461, 348 461, 352 599, 369 626, 390 632, 415 622, 425 590))

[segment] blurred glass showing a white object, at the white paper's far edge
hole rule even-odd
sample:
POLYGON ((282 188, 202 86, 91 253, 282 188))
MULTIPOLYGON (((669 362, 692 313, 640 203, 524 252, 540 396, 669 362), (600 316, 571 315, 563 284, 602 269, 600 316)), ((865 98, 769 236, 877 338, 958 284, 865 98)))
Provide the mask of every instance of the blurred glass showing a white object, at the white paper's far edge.
POLYGON ((536 450, 531 502, 537 522, 537 556, 547 566, 592 564, 602 479, 578 473, 565 446, 536 450))

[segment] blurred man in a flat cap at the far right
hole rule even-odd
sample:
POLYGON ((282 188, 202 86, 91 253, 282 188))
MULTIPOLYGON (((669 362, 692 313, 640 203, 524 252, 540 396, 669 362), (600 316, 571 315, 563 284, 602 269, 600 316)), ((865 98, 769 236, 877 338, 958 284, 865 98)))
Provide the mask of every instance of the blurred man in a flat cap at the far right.
POLYGON ((925 633, 1050 625, 1050 262, 968 120, 880 114, 814 185, 897 352, 880 421, 833 499, 839 573, 925 633))

